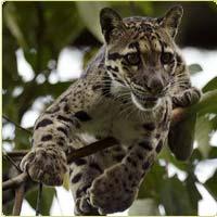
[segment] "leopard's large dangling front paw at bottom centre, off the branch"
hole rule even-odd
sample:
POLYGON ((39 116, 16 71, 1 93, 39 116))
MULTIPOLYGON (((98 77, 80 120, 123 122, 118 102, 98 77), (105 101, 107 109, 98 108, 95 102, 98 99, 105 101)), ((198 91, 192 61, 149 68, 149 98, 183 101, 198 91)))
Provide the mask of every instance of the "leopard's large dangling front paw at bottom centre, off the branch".
POLYGON ((105 170, 88 191, 91 205, 102 215, 127 209, 138 193, 137 186, 129 178, 132 179, 123 164, 105 170))

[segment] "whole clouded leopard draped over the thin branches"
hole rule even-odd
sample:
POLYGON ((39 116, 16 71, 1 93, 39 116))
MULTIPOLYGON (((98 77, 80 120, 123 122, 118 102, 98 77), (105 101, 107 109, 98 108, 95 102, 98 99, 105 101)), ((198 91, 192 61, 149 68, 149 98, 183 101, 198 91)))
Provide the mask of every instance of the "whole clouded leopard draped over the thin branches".
POLYGON ((81 78, 37 119, 21 168, 60 186, 67 171, 75 214, 128 208, 168 136, 174 106, 199 101, 175 43, 182 8, 162 17, 100 13, 104 44, 81 78), (66 154, 106 137, 119 145, 66 165, 66 154))

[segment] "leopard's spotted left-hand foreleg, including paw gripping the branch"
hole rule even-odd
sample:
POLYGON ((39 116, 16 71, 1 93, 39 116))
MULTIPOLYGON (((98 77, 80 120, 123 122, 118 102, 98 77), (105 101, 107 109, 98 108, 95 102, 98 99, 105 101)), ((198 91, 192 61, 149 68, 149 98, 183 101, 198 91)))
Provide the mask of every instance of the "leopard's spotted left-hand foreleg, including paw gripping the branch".
POLYGON ((27 171, 35 181, 48 186, 63 183, 69 142, 80 125, 75 113, 66 112, 68 107, 67 99, 54 103, 35 124, 33 148, 21 162, 21 169, 27 171))

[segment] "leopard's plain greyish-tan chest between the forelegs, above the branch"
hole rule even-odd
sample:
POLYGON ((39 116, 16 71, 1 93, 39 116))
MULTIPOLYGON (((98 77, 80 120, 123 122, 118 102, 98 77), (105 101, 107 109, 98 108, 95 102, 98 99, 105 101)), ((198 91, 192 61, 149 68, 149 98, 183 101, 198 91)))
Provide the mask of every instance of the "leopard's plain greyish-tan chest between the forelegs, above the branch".
POLYGON ((78 133, 82 139, 86 139, 87 143, 88 140, 93 142, 94 139, 114 137, 120 143, 130 145, 153 135, 144 128, 146 123, 154 125, 153 117, 149 114, 140 114, 135 107, 126 110, 119 104, 104 103, 89 114, 91 115, 91 120, 82 123, 78 133))

